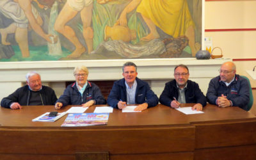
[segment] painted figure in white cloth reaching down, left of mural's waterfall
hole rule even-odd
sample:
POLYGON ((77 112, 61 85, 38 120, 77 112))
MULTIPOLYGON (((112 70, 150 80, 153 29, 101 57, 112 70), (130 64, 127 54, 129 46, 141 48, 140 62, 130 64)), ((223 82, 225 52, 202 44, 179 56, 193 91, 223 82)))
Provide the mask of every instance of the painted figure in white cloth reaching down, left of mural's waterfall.
MULTIPOLYGON (((47 42, 52 43, 51 36, 47 35, 41 28, 43 20, 35 7, 31 4, 34 0, 1 0, 0 12, 13 23, 7 28, 1 28, 1 41, 3 45, 10 45, 6 42, 6 36, 15 33, 15 40, 20 47, 22 57, 29 56, 28 29, 31 27, 38 35, 42 36, 47 42)), ((36 1, 36 0, 35 0, 36 1)), ((36 3, 38 3, 36 1, 36 3)))

